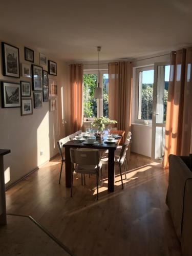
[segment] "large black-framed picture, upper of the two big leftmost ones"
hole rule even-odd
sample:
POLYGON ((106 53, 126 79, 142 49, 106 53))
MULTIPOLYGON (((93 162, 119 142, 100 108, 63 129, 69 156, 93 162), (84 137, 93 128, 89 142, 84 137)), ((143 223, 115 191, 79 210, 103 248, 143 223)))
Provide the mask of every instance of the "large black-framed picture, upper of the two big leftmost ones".
POLYGON ((2 58, 3 75, 19 78, 19 49, 2 42, 2 58))

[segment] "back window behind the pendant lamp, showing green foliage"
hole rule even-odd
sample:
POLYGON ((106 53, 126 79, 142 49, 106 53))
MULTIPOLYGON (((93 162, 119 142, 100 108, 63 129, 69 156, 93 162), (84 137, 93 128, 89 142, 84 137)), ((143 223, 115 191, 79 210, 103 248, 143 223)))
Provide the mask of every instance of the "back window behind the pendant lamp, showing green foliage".
POLYGON ((98 71, 84 71, 83 74, 83 117, 86 119, 108 117, 109 114, 109 75, 107 71, 100 71, 99 76, 103 98, 94 99, 94 91, 98 86, 98 71))

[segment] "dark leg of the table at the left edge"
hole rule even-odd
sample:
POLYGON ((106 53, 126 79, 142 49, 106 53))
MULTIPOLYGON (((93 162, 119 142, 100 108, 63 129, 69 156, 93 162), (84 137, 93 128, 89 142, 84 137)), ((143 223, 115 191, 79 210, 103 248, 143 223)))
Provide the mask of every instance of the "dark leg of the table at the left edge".
POLYGON ((6 198, 5 198, 5 178, 4 178, 4 161, 3 156, 0 156, 0 224, 7 224, 6 217, 6 198))

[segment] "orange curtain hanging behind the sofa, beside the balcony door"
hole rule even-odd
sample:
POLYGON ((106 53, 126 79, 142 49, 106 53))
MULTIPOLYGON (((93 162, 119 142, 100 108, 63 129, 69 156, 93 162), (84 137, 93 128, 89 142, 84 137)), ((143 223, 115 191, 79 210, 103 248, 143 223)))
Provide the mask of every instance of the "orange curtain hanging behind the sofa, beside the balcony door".
POLYGON ((172 52, 168 86, 165 151, 163 167, 168 168, 168 156, 188 155, 191 140, 192 115, 192 48, 172 52))

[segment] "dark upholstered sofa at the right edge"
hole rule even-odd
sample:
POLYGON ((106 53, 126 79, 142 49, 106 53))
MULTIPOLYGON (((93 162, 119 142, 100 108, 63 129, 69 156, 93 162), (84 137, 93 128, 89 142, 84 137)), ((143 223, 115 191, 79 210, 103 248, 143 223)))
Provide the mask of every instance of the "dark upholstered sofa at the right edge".
POLYGON ((192 155, 169 155, 166 204, 181 242, 182 254, 192 255, 192 155))

